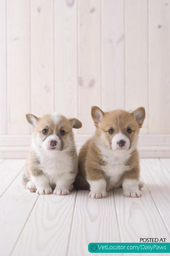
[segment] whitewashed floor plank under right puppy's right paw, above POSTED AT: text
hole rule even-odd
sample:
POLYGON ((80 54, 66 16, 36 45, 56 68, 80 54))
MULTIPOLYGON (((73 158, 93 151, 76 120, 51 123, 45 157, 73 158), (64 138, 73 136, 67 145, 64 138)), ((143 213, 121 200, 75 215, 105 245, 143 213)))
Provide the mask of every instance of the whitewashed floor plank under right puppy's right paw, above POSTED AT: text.
MULTIPOLYGON (((169 233, 153 199, 144 185, 140 198, 124 197, 122 189, 115 189, 121 242, 140 242, 140 238, 167 238, 169 233)), ((168 242, 168 241, 167 241, 168 242)))

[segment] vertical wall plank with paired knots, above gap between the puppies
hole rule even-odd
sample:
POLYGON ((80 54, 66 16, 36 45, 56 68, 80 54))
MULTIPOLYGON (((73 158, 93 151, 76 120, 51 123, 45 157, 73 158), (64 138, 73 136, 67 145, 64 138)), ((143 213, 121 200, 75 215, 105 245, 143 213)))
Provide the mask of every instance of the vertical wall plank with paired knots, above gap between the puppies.
POLYGON ((101 1, 79 0, 79 118, 80 133, 95 130, 90 116, 92 105, 101 107, 101 1))

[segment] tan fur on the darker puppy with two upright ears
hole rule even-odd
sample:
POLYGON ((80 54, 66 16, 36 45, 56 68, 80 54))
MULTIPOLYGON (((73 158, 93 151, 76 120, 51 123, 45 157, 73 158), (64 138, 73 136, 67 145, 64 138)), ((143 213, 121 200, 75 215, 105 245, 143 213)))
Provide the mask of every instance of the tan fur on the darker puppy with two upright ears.
POLYGON ((98 107, 93 106, 91 116, 96 126, 95 136, 89 139, 81 148, 79 154, 79 172, 74 182, 74 187, 79 189, 89 189, 87 180, 98 181, 109 177, 106 176, 106 162, 99 146, 111 149, 112 139, 118 132, 123 133, 130 141, 131 154, 124 162, 124 172, 120 175, 115 187, 121 186, 124 179, 139 179, 139 158, 136 149, 139 128, 145 119, 145 109, 138 108, 132 113, 124 110, 113 110, 103 112, 98 107), (127 129, 132 130, 131 133, 127 129), (110 134, 109 129, 113 129, 114 133, 110 134))

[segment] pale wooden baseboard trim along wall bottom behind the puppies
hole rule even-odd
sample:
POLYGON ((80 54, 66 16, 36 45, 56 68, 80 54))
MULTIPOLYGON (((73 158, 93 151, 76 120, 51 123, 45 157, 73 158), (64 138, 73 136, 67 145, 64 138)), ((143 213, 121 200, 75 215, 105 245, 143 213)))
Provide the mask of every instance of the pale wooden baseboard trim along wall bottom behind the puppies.
MULTIPOLYGON (((90 135, 75 135, 78 149, 90 135)), ((26 158, 30 149, 31 135, 1 135, 0 158, 26 158)), ((140 157, 170 157, 170 134, 140 134, 140 157)))

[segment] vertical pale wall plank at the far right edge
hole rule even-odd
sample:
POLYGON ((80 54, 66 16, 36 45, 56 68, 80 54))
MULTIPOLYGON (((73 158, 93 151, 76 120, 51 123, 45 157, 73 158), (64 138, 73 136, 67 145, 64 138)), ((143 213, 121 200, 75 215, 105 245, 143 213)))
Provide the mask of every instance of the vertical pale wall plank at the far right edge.
POLYGON ((149 0, 149 133, 169 133, 170 0, 149 0))

